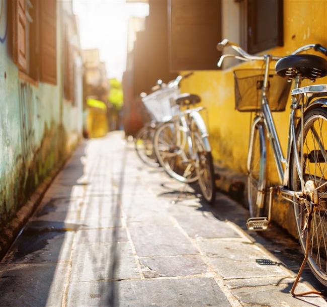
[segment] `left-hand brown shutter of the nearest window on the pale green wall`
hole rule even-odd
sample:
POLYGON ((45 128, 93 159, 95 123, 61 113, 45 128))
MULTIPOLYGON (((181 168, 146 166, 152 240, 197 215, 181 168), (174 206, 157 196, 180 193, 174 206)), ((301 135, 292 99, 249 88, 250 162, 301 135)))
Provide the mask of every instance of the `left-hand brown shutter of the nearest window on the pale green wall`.
POLYGON ((13 5, 13 60, 17 66, 26 71, 26 0, 18 0, 13 5))

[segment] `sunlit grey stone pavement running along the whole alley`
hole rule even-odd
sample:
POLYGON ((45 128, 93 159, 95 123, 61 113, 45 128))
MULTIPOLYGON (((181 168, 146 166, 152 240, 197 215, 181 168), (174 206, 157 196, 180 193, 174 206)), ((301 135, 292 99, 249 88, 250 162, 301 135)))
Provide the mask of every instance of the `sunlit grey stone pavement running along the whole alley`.
POLYGON ((0 264, 0 306, 327 306, 293 298, 294 273, 217 198, 144 166, 120 132, 84 142, 0 264))

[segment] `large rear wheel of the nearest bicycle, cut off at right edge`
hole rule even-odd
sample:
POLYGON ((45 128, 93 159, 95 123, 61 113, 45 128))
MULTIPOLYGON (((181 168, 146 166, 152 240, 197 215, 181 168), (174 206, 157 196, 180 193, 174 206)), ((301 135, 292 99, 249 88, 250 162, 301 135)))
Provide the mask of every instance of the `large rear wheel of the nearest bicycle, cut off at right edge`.
MULTIPOLYGON (((296 143, 301 150, 300 129, 296 143)), ((313 186, 318 192, 313 200, 313 212, 309 230, 308 263, 315 277, 327 286, 327 108, 317 108, 304 116, 303 125, 303 179, 306 186, 313 186), (325 184, 325 185, 323 185, 325 184)), ((291 158, 290 188, 301 191, 301 182, 296 169, 294 153, 291 158)), ((313 188, 312 188, 313 189, 313 188)), ((311 200, 307 196, 308 200, 311 200)), ((304 201, 294 199, 294 214, 297 233, 303 252, 306 250, 307 209, 304 201), (302 234, 303 233, 303 234, 302 234)))

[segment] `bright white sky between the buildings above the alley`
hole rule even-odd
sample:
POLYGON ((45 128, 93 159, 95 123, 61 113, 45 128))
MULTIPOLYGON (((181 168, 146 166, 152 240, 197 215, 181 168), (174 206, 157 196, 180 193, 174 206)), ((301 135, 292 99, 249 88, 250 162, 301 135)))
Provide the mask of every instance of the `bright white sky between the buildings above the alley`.
POLYGON ((126 65, 127 24, 148 15, 148 5, 125 0, 74 0, 83 49, 99 48, 109 78, 121 80, 126 65))

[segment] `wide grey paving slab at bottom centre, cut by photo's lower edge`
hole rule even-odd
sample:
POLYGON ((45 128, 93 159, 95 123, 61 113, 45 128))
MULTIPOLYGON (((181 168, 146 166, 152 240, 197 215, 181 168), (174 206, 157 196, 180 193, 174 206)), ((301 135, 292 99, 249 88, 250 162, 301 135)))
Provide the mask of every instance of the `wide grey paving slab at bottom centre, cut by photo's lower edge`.
POLYGON ((230 306, 212 278, 71 283, 68 306, 230 306), (196 289, 196 291, 195 291, 196 289))

